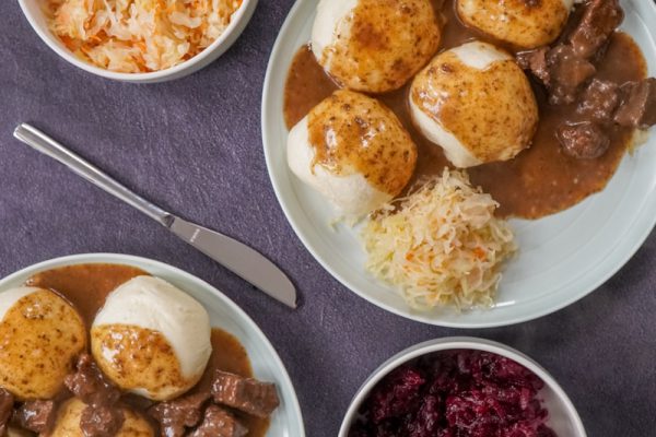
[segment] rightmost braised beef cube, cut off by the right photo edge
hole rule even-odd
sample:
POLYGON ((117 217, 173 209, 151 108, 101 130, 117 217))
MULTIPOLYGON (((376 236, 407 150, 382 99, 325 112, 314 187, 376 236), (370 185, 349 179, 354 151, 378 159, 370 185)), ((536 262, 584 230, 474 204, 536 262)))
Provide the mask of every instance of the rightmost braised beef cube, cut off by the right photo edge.
POLYGON ((616 113, 618 125, 648 129, 656 125, 656 79, 631 82, 622 86, 624 99, 616 113))

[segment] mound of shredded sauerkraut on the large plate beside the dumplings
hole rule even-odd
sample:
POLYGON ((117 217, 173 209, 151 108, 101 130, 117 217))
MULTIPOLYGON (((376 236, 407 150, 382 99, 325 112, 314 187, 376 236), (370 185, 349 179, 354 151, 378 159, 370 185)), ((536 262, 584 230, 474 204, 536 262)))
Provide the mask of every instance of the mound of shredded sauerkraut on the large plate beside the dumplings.
POLYGON ((466 173, 445 169, 367 218, 366 268, 414 309, 490 307, 502 264, 516 251, 511 227, 494 217, 497 206, 466 173))

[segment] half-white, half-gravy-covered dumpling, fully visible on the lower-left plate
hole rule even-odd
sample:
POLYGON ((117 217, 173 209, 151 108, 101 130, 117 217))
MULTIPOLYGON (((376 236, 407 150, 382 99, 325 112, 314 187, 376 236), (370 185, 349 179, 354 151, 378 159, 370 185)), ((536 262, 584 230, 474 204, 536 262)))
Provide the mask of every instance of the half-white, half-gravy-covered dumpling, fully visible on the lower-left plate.
POLYGON ((210 318, 191 296, 153 276, 107 296, 91 330, 98 367, 122 390, 162 401, 198 382, 212 353, 210 318))

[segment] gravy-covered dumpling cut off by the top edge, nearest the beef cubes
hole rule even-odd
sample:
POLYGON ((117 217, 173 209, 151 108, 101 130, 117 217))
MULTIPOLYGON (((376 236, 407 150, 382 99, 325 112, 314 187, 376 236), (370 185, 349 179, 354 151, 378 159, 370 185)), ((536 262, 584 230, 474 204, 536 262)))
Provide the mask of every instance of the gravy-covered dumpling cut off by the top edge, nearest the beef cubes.
POLYGON ((555 40, 573 4, 574 0, 457 0, 465 24, 523 48, 555 40))

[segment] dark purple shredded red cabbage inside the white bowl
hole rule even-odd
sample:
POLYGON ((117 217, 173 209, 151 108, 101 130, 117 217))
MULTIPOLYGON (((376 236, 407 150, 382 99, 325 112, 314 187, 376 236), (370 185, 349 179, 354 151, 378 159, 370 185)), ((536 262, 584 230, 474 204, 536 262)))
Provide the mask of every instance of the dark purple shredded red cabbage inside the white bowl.
POLYGON ((378 382, 349 437, 557 437, 537 397, 543 386, 500 355, 425 356, 378 382))

